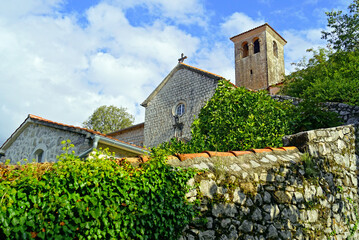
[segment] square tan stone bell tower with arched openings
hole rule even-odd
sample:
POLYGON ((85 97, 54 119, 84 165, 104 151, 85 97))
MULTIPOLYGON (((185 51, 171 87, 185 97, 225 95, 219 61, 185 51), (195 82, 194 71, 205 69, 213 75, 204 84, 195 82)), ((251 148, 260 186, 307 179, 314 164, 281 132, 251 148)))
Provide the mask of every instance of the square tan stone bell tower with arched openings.
POLYGON ((287 41, 265 23, 231 38, 234 43, 236 85, 270 90, 283 82, 287 41))

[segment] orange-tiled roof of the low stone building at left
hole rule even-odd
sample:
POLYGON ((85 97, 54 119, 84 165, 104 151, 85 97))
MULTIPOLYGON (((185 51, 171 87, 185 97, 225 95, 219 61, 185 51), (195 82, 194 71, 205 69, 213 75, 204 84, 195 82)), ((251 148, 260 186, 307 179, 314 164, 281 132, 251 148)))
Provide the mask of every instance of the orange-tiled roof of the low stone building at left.
POLYGON ((100 142, 104 142, 105 144, 114 145, 115 147, 118 147, 118 148, 123 149, 123 150, 127 150, 129 152, 135 152, 135 153, 138 153, 138 154, 143 154, 145 152, 149 152, 147 149, 145 149, 143 147, 140 147, 140 146, 137 146, 135 144, 131 144, 131 143, 128 143, 128 142, 118 140, 116 138, 107 136, 107 135, 105 135, 103 133, 100 133, 100 132, 97 132, 97 131, 94 131, 94 130, 91 130, 91 129, 54 122, 54 121, 51 121, 51 120, 48 120, 48 119, 45 119, 45 118, 42 118, 42 117, 39 117, 39 116, 35 116, 35 115, 32 115, 32 114, 28 115, 28 117, 25 119, 25 121, 5 141, 5 143, 0 147, 0 149, 4 150, 4 149, 7 149, 9 146, 11 146, 11 144, 16 140, 16 138, 31 123, 37 123, 37 124, 41 124, 41 125, 44 125, 44 126, 57 128, 57 129, 60 129, 60 130, 63 130, 63 131, 68 131, 68 132, 74 132, 74 133, 78 133, 78 134, 88 135, 88 137, 98 136, 100 142))

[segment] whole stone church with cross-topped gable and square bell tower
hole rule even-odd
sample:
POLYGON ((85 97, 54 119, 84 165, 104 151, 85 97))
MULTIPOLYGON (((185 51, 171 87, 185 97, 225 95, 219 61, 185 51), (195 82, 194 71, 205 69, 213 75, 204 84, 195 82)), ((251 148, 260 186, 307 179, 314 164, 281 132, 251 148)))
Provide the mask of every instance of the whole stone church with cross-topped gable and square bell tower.
MULTIPOLYGON (((284 77, 286 40, 269 24, 230 39, 234 43, 236 86, 279 90, 284 77)), ((140 146, 154 147, 173 137, 191 138, 191 125, 215 92, 221 76, 183 63, 185 57, 141 104, 145 122, 108 134, 140 146)))

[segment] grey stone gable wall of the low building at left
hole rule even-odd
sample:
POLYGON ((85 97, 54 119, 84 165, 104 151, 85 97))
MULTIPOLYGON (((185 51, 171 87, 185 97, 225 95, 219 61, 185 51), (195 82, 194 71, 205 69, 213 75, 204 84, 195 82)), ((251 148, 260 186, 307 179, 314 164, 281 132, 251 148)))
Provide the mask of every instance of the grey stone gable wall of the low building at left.
POLYGON ((74 151, 81 153, 91 147, 85 135, 67 132, 39 124, 30 124, 6 150, 6 155, 1 159, 11 159, 11 163, 17 163, 23 159, 31 160, 33 153, 38 148, 44 150, 45 161, 56 159, 62 153, 61 141, 70 139, 75 145, 74 151))

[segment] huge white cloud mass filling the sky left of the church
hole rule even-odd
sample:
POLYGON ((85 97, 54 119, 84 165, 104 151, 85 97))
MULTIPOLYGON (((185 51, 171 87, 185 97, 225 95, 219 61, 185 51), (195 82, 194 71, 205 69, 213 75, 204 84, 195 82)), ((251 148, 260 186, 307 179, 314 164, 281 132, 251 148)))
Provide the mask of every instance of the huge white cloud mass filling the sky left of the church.
POLYGON ((12 19, 0 16, 0 144, 29 113, 80 125, 97 107, 117 105, 143 121, 139 104, 181 52, 199 47, 199 39, 160 19, 132 26, 118 6, 93 6, 83 28, 76 16, 57 12, 60 1, 41 14, 39 2, 14 10, 12 19))

